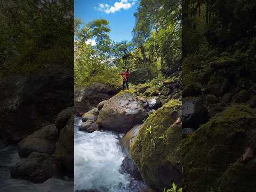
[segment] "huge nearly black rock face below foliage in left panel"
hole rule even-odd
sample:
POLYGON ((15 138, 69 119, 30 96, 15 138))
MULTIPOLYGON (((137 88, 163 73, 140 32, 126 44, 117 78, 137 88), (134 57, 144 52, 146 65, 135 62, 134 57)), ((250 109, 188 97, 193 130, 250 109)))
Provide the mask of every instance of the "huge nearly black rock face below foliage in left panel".
POLYGON ((0 80, 0 134, 18 142, 73 105, 73 71, 49 68, 0 80))

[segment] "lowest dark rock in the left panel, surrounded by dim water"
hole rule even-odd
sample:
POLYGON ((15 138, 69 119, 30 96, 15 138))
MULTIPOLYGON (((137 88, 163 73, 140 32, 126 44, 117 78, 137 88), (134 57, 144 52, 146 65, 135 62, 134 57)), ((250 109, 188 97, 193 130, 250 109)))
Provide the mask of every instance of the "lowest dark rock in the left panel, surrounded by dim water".
POLYGON ((60 164, 47 154, 33 152, 22 159, 11 170, 14 179, 25 179, 34 183, 42 183, 50 179, 60 169, 60 164))

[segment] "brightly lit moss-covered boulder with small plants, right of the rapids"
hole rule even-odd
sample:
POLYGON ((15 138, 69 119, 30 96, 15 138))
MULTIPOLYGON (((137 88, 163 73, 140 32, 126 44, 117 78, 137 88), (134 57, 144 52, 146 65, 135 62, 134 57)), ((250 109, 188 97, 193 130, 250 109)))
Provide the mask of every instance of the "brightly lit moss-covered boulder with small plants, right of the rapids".
POLYGON ((159 191, 180 186, 181 164, 177 153, 181 143, 181 102, 171 100, 150 115, 142 125, 130 153, 143 180, 159 191))

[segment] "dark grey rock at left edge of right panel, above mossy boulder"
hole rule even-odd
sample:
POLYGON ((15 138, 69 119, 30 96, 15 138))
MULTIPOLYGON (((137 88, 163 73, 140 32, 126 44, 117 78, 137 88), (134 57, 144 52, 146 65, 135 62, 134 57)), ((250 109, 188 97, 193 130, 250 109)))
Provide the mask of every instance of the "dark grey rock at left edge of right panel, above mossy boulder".
POLYGON ((207 111, 199 98, 184 98, 182 100, 182 127, 198 129, 207 121, 207 111))

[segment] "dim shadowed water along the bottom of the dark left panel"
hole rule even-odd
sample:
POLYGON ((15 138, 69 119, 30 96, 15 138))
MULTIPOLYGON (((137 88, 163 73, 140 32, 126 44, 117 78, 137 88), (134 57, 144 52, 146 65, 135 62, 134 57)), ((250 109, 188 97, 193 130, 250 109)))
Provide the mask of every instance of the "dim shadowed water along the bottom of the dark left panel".
POLYGON ((0 191, 2 192, 73 192, 74 182, 60 179, 49 179, 44 183, 32 183, 10 177, 11 167, 20 161, 18 146, 5 146, 0 141, 0 191))

